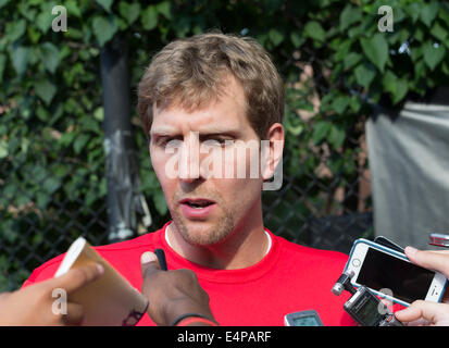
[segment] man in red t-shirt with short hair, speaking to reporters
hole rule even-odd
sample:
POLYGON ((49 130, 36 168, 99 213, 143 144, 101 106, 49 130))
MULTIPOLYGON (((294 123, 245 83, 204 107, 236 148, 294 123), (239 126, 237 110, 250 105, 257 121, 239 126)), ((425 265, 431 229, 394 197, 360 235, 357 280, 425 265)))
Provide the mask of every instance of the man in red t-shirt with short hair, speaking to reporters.
MULTIPOLYGON (((141 288, 140 256, 164 249, 169 269, 195 272, 221 325, 284 325, 286 314, 311 309, 324 325, 353 325, 342 309, 348 296, 330 291, 347 256, 263 226, 262 187, 282 161, 285 102, 263 48, 222 34, 176 40, 153 58, 138 98, 173 221, 97 250, 141 288)), ((25 286, 51 277, 61 260, 36 269, 25 286)), ((145 315, 138 324, 154 322, 145 315)))

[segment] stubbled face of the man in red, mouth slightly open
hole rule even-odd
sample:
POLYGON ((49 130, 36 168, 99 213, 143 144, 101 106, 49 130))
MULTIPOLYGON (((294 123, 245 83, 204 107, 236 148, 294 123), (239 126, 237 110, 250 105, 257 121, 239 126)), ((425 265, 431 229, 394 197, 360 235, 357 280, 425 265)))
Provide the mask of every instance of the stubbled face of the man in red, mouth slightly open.
POLYGON ((174 224, 191 245, 220 243, 260 219, 260 151, 240 151, 242 144, 260 146, 260 139, 248 122, 241 86, 228 78, 223 89, 190 112, 176 103, 153 109, 151 162, 174 224))

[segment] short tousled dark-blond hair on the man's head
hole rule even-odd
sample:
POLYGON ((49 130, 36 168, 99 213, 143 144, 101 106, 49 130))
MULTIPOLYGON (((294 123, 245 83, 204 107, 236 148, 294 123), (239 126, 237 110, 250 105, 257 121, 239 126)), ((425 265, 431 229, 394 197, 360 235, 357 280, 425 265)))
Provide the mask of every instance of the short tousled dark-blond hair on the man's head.
POLYGON ((254 39, 208 33, 177 39, 158 52, 138 86, 138 114, 149 136, 153 105, 195 110, 220 96, 232 74, 245 90, 247 116, 260 139, 284 116, 284 83, 254 39))

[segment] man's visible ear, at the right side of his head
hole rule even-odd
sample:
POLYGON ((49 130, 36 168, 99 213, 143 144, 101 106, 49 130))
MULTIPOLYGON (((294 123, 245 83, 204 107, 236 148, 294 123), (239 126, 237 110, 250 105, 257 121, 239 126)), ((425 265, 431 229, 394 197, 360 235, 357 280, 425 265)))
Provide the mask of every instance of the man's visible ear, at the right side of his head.
POLYGON ((275 170, 282 165, 284 151, 284 127, 274 123, 270 127, 266 140, 262 140, 261 174, 263 181, 269 181, 275 175, 275 170))

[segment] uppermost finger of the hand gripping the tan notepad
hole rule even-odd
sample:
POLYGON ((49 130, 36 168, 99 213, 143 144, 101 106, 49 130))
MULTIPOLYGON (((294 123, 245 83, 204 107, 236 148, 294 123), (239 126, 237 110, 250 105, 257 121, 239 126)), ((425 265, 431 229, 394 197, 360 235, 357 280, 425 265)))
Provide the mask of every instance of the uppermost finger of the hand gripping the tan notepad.
POLYGON ((73 270, 70 270, 66 274, 54 278, 50 286, 60 287, 67 293, 75 291, 85 287, 86 285, 98 279, 104 270, 99 263, 89 263, 73 270))

